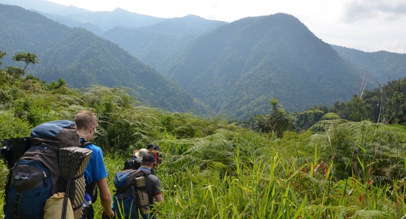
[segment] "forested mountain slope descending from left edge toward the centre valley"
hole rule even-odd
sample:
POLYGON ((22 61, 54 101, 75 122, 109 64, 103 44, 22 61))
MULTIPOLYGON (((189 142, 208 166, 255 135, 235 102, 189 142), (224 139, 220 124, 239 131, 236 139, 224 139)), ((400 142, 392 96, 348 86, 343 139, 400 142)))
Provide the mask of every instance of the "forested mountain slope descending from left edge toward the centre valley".
POLYGON ((206 107, 180 86, 128 54, 116 44, 79 28, 68 28, 35 12, 0 4, 0 50, 3 66, 16 65, 12 55, 35 53, 40 64, 30 66, 42 80, 66 79, 73 87, 126 86, 143 104, 171 111, 206 115, 206 107))

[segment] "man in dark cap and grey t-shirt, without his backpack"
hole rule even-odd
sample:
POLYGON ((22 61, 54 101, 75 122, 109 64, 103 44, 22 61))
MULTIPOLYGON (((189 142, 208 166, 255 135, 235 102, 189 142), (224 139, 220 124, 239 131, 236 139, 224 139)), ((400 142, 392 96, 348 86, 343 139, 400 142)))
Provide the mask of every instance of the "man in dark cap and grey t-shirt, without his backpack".
MULTIPOLYGON (((141 167, 139 167, 139 170, 143 171, 144 173, 151 173, 154 163, 155 157, 151 154, 146 154, 142 157, 141 167)), ((164 200, 162 197, 161 182, 159 179, 152 174, 148 174, 145 178, 145 187, 147 189, 149 204, 153 205, 156 201, 159 205, 162 205, 164 200)), ((155 219, 156 217, 152 217, 151 214, 150 218, 155 219)))

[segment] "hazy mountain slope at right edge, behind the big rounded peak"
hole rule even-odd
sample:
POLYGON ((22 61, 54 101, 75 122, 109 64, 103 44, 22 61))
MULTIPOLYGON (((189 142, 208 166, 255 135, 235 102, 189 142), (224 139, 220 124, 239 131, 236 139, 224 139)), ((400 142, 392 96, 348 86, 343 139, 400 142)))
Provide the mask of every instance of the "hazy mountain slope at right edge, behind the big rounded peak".
POLYGON ((379 51, 367 53, 361 50, 331 45, 338 54, 355 65, 373 73, 373 80, 386 83, 406 75, 406 54, 379 51))

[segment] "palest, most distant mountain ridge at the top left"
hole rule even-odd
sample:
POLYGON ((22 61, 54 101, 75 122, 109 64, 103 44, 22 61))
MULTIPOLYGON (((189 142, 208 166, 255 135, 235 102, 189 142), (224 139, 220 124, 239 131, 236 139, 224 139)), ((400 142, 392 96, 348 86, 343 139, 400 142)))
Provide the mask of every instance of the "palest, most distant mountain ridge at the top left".
POLYGON ((81 27, 99 36, 115 26, 142 27, 153 25, 165 19, 141 15, 121 8, 116 8, 113 11, 93 12, 46 0, 0 0, 0 4, 17 5, 28 10, 34 10, 68 27, 81 27))

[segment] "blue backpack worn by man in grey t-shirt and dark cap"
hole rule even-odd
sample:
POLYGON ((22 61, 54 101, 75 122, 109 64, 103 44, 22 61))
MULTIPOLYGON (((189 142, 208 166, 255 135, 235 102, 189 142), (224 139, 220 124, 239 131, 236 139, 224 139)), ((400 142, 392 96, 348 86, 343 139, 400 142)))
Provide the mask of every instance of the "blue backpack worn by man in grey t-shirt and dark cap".
MULTIPOLYGON (((138 219, 141 215, 142 219, 151 218, 149 215, 142 215, 139 213, 140 208, 149 210, 149 204, 137 206, 135 190, 142 190, 147 196, 145 186, 136 186, 134 181, 138 177, 147 177, 149 173, 145 173, 139 169, 129 169, 116 173, 114 178, 114 185, 116 192, 113 196, 113 209, 117 219, 138 219)), ((148 199, 148 197, 146 197, 148 199)))

